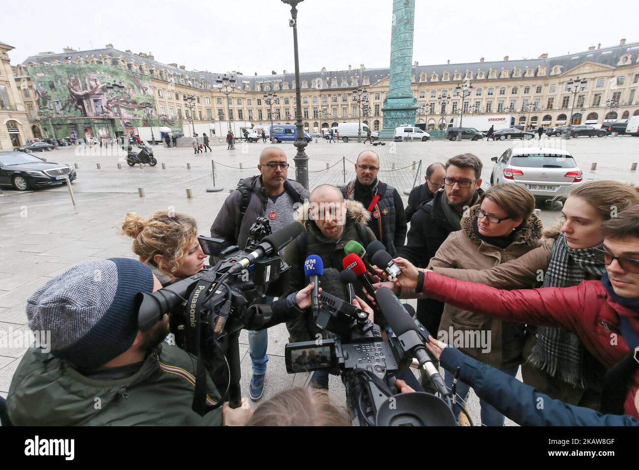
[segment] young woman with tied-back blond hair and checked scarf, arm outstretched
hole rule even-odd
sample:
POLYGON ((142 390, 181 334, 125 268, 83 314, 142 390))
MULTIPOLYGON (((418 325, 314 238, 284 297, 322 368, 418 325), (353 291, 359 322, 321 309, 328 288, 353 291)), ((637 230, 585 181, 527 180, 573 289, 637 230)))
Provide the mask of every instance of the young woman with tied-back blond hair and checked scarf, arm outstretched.
MULTIPOLYGON (((583 183, 570 192, 558 223, 544 231, 546 239, 541 247, 491 269, 432 269, 450 278, 502 289, 526 288, 534 283, 570 287, 601 279, 605 272, 601 228, 638 204, 639 188, 635 185, 613 180, 583 183)), ((406 260, 397 260, 397 264, 417 276, 406 260)), ((599 409, 604 370, 575 334, 560 327, 528 325, 524 360, 521 375, 527 384, 571 405, 599 409)))

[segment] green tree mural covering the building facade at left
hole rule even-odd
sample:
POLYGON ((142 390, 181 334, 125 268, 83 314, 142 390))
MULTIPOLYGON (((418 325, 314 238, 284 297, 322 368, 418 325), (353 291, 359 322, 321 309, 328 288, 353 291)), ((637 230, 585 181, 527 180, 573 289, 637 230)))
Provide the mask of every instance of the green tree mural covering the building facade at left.
POLYGON ((30 67, 29 76, 40 116, 54 129, 99 129, 108 122, 120 132, 149 125, 181 130, 179 120, 147 117, 148 106, 155 114, 155 95, 150 77, 137 72, 102 64, 65 64, 30 67))

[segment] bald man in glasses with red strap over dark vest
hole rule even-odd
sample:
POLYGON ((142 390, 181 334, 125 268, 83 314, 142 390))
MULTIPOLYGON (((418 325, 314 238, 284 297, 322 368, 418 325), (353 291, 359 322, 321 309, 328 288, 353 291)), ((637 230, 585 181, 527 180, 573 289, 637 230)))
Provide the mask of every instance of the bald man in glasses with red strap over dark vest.
POLYGON ((355 162, 357 178, 341 191, 345 200, 362 203, 371 214, 368 226, 375 238, 391 256, 396 256, 397 249, 404 246, 408 230, 404 203, 397 189, 378 180, 379 171, 380 157, 373 150, 364 150, 355 162))

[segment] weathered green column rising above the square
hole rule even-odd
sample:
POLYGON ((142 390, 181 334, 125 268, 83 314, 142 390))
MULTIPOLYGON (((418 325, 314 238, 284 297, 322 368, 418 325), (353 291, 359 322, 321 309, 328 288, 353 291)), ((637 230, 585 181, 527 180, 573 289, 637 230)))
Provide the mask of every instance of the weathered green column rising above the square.
POLYGON ((382 138, 392 138, 395 128, 402 124, 415 123, 417 100, 410 92, 414 26, 415 0, 394 0, 390 37, 390 85, 382 107, 382 138))

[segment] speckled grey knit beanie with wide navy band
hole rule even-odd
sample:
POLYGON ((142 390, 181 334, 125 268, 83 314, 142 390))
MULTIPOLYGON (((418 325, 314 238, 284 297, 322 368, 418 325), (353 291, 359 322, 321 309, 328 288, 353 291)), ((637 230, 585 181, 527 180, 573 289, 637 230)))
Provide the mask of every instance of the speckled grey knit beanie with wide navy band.
POLYGON ((153 292, 153 274, 144 263, 111 258, 73 266, 29 297, 29 328, 51 332, 54 356, 95 369, 133 344, 137 292, 153 292))

